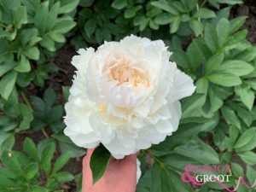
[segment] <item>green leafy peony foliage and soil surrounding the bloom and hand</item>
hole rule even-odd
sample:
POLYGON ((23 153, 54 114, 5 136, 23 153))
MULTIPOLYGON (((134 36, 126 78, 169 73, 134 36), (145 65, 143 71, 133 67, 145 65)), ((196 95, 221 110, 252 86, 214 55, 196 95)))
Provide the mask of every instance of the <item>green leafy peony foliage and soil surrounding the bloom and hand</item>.
POLYGON ((131 33, 163 39, 197 86, 177 132, 141 152, 137 192, 222 191, 182 183, 188 163, 253 183, 255 15, 253 0, 0 0, 0 191, 81 191, 85 150, 63 134, 70 61, 131 33))

